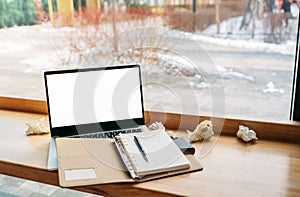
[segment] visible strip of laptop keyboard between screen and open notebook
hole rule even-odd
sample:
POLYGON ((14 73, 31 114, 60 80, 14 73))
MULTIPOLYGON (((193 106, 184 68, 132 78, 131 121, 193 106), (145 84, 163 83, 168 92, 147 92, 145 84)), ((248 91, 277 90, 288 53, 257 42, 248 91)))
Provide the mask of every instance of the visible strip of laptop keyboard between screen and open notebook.
POLYGON ((116 130, 116 131, 104 131, 104 132, 89 133, 84 135, 77 135, 72 137, 73 138, 114 138, 120 133, 138 133, 138 132, 142 132, 142 130, 137 128, 137 129, 116 130))

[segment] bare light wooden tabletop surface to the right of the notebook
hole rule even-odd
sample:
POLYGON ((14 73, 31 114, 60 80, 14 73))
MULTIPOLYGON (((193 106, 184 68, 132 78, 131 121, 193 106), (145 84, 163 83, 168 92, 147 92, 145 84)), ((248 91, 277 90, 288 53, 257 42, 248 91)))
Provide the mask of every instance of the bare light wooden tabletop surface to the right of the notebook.
POLYGON ((300 146, 221 136, 194 143, 203 172, 141 183, 138 187, 186 196, 300 196, 300 146), (211 141, 214 141, 211 139, 211 141))

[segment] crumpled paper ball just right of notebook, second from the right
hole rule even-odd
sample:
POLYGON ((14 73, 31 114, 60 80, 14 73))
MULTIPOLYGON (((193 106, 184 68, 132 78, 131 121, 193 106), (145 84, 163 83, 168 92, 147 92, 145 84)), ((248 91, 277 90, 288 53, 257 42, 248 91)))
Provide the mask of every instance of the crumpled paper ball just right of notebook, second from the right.
POLYGON ((213 124, 210 120, 204 120, 194 129, 193 132, 187 130, 188 140, 190 142, 208 139, 214 135, 213 124))

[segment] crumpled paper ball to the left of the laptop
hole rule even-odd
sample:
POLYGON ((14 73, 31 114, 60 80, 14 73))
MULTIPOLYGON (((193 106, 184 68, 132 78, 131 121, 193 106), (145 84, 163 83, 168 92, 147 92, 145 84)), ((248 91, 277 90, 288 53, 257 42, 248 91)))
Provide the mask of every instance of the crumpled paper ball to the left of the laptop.
POLYGON ((25 124, 28 126, 26 135, 49 133, 49 126, 45 118, 30 121, 25 124))

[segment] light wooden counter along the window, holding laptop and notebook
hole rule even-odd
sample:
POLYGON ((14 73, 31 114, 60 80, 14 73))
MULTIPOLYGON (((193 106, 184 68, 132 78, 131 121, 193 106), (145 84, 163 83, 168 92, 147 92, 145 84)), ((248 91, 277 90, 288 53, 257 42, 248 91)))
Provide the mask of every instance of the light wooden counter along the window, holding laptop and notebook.
MULTIPOLYGON (((25 122, 44 116, 0 110, 1 174, 58 185, 57 171, 45 170, 49 135, 25 135, 25 122)), ((234 136, 215 136, 194 146, 203 171, 138 184, 73 189, 104 196, 300 196, 299 144, 264 140, 245 144, 234 136)))

